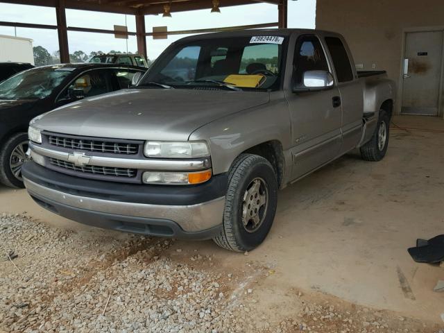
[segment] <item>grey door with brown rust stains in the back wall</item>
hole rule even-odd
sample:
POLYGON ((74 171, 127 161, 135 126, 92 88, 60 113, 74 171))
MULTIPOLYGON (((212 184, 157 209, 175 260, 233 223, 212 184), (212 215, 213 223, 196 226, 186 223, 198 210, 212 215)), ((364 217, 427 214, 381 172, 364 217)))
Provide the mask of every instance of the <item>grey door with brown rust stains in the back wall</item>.
POLYGON ((403 114, 438 115, 443 31, 407 33, 405 39, 403 114))

